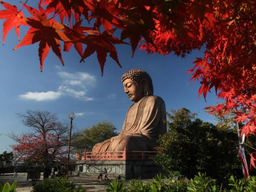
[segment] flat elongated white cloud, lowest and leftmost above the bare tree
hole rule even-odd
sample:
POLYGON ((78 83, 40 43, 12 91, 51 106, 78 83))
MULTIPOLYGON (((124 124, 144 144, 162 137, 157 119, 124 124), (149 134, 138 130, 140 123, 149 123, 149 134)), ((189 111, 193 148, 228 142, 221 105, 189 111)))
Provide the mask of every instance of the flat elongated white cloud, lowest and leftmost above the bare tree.
POLYGON ((19 95, 20 99, 28 99, 35 101, 50 101, 58 99, 61 96, 61 92, 47 91, 47 92, 27 92, 23 95, 19 95))

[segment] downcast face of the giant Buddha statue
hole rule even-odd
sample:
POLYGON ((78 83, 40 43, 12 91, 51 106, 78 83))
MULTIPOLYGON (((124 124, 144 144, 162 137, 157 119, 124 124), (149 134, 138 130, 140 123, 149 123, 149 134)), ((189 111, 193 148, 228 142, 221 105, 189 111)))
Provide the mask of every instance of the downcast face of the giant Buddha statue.
POLYGON ((143 86, 142 85, 137 86, 137 84, 131 79, 126 79, 123 82, 123 87, 129 99, 135 103, 140 101, 140 99, 144 97, 143 86))

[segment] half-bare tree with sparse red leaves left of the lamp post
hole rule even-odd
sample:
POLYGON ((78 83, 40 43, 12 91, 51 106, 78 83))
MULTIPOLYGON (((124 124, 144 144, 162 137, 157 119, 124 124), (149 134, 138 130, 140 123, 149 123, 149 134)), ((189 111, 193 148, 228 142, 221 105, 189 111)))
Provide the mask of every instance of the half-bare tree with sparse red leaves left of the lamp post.
POLYGON ((9 135, 17 143, 12 145, 14 157, 17 161, 42 164, 44 178, 47 178, 56 162, 67 162, 68 125, 58 122, 48 111, 26 111, 17 115, 22 124, 31 129, 28 133, 9 135))

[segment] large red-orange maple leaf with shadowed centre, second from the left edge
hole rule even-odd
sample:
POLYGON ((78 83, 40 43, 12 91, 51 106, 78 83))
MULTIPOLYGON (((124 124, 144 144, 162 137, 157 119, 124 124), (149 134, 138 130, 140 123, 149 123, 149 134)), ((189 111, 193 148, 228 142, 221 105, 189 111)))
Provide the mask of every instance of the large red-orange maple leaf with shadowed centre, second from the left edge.
POLYGON ((40 41, 38 52, 41 71, 43 70, 44 59, 46 58, 50 47, 52 47, 52 51, 64 65, 64 61, 61 58, 61 46, 59 40, 70 41, 70 39, 60 31, 64 26, 53 19, 47 20, 40 15, 37 15, 37 17, 37 20, 33 18, 20 17, 31 27, 20 44, 18 44, 14 49, 40 41))

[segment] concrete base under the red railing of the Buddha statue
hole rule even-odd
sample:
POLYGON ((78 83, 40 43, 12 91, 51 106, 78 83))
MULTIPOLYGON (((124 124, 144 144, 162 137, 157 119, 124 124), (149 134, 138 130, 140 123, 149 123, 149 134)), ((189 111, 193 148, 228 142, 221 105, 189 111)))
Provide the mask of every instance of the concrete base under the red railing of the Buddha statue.
POLYGON ((97 178, 107 169, 108 178, 119 180, 142 178, 149 179, 161 172, 152 160, 79 160, 76 163, 76 171, 80 177, 97 178))

